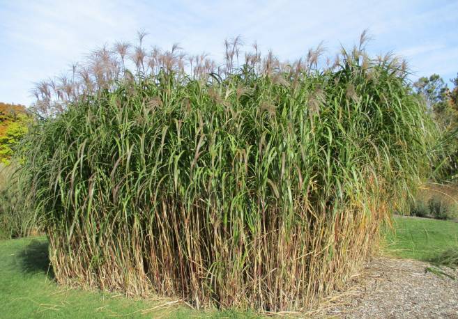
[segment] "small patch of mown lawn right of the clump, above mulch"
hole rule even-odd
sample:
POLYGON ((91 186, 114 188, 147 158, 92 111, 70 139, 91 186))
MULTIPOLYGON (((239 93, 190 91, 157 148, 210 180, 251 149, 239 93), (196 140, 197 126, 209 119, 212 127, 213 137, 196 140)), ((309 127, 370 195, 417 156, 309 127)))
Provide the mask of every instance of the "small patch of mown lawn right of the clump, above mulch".
MULTIPOLYGON (((458 256, 458 223, 418 217, 395 217, 386 235, 388 255, 438 264, 458 256)), ((458 258, 457 258, 458 260, 458 258)))

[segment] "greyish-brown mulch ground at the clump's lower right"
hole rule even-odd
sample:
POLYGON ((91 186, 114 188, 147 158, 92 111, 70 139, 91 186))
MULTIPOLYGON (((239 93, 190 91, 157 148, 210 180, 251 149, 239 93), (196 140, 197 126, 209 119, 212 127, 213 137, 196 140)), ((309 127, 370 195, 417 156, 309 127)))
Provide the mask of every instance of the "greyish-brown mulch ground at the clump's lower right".
POLYGON ((375 258, 353 277, 348 291, 319 312, 315 315, 325 318, 458 318, 458 270, 375 258))

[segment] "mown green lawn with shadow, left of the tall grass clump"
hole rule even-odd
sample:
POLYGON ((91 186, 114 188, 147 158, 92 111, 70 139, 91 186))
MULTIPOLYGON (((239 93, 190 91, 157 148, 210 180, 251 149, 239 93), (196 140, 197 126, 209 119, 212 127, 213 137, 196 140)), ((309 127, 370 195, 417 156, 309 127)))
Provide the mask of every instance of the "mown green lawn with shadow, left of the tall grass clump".
POLYGON ((46 238, 0 240, 0 318, 255 318, 254 313, 194 311, 167 299, 128 299, 58 286, 46 238))

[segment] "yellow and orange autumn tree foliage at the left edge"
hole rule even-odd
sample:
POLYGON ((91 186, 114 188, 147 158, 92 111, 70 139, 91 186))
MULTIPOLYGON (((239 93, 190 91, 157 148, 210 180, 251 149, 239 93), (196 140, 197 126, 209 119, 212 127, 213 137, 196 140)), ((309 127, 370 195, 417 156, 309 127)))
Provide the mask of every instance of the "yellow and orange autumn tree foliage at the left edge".
POLYGON ((14 148, 27 132, 30 117, 22 105, 0 102, 0 162, 9 164, 14 148))

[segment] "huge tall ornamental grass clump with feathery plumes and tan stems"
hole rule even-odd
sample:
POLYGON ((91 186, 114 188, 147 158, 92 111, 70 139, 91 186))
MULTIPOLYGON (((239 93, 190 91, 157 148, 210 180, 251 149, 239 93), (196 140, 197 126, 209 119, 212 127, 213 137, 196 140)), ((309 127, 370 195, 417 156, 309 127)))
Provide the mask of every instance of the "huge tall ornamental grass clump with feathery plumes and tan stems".
POLYGON ((342 288, 427 173, 434 125, 396 59, 317 51, 139 67, 37 125, 22 169, 57 281, 267 311, 342 288))

